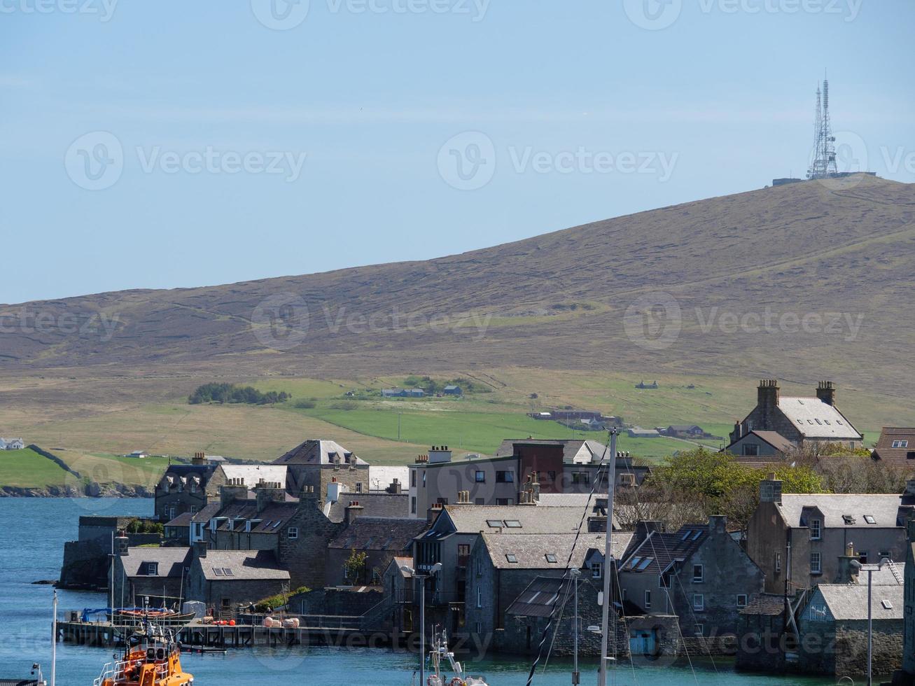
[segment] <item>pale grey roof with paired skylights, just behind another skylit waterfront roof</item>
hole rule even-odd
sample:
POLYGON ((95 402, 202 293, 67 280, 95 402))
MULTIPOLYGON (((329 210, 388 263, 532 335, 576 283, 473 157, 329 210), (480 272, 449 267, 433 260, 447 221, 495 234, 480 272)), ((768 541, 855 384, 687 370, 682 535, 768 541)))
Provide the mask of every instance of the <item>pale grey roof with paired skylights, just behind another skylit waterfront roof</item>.
POLYGON ((578 531, 583 514, 581 508, 533 505, 446 505, 444 510, 458 533, 569 533, 578 531))

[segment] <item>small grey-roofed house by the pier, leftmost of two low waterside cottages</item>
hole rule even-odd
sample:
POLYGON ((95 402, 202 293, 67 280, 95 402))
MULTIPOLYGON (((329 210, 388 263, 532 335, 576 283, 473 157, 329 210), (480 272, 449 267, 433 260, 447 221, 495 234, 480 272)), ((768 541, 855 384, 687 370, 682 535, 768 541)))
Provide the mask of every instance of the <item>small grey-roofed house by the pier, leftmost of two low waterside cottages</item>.
POLYGON ((114 605, 142 607, 149 598, 151 607, 180 607, 179 599, 188 596, 189 547, 137 548, 124 544, 117 548, 112 573, 114 605))

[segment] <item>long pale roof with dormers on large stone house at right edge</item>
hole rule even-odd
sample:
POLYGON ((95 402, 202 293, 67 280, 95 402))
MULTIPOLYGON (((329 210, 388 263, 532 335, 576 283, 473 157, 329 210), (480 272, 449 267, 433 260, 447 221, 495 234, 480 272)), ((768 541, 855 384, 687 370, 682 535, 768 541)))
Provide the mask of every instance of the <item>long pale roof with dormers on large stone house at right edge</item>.
POLYGON ((856 493, 785 493, 776 503, 785 523, 790 527, 808 527, 809 515, 817 509, 823 515, 823 527, 839 529, 887 529, 902 526, 901 498, 893 494, 856 493), (845 515, 851 520, 845 520, 845 515), (870 524, 865 515, 874 518, 870 524))

